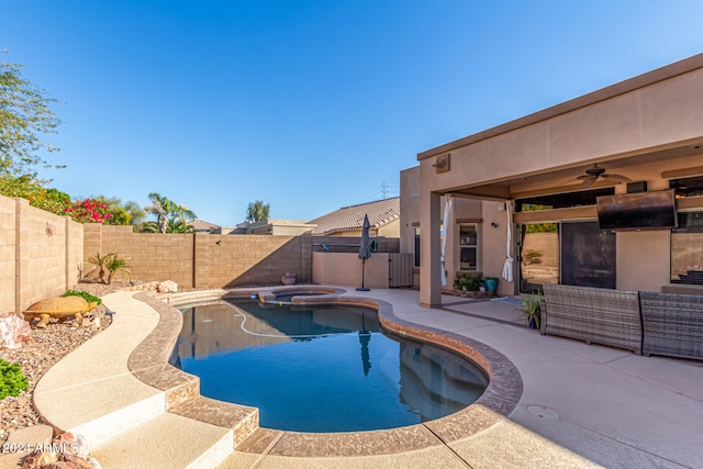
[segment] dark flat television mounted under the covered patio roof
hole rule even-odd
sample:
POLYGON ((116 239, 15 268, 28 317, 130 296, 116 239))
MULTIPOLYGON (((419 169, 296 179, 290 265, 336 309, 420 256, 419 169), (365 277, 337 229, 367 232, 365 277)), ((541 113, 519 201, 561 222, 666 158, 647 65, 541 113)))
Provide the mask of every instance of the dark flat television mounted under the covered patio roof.
POLYGON ((596 208, 601 230, 677 226, 673 190, 603 196, 596 199, 596 208))

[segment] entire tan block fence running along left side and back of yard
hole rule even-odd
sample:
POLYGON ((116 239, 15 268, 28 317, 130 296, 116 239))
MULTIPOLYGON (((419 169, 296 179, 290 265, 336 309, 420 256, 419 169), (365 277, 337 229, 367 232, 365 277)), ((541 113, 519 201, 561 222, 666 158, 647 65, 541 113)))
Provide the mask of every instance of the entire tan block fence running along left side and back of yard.
MULTIPOLYGON (((0 313, 21 312, 76 287, 93 269, 88 259, 96 254, 126 258, 134 280, 214 289, 277 284, 286 272, 295 273, 299 283, 310 283, 313 250, 320 250, 322 243, 333 253, 345 249, 345 244, 356 252, 359 238, 133 233, 131 226, 76 223, 30 206, 24 199, 0 196, 0 313)), ((397 238, 379 237, 378 245, 379 254, 399 249, 397 238)), ((339 260, 327 266, 331 271, 356 269, 359 264, 356 256, 333 257, 339 260)), ((356 286, 356 277, 349 286, 356 286)), ((317 276, 315 281, 326 280, 317 276)))

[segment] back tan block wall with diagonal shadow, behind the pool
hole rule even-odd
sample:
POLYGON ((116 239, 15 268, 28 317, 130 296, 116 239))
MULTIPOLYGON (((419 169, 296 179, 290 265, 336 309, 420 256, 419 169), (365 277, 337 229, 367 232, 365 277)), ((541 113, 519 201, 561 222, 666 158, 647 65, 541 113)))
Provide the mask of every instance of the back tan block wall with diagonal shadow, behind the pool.
MULTIPOLYGON (((130 226, 85 225, 88 259, 114 253, 125 257, 132 278, 172 280, 182 288, 276 284, 286 272, 299 282, 312 279, 311 237, 132 233, 130 226)), ((94 272, 93 272, 94 275, 94 272)))

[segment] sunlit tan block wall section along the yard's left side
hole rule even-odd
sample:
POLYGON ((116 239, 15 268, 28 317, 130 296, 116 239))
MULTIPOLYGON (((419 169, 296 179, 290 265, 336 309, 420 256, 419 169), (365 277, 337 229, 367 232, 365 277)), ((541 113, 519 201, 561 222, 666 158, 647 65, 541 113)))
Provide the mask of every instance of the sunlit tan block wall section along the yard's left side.
POLYGON ((21 312, 74 288, 82 246, 79 223, 25 199, 0 197, 0 312, 21 312))

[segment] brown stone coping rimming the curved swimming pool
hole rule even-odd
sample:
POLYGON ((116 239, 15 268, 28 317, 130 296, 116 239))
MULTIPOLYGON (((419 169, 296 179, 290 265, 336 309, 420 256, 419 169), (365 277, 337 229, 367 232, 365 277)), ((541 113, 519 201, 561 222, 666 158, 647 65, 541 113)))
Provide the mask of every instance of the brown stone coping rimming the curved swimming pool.
POLYGON ((233 429, 237 451, 288 457, 347 457, 392 455, 451 445, 503 421, 517 406, 523 381, 517 368, 503 354, 478 340, 398 317, 383 300, 345 297, 347 291, 332 287, 255 288, 200 290, 154 295, 137 293, 160 316, 157 326, 132 351, 127 367, 141 381, 166 394, 166 411, 233 429), (465 356, 483 369, 489 386, 471 405, 445 417, 390 429, 339 433, 303 433, 265 428, 258 425, 258 409, 216 401, 200 395, 200 380, 174 366, 182 314, 177 305, 201 304, 223 299, 257 297, 272 300, 276 294, 295 291, 320 292, 314 297, 293 297, 293 304, 344 304, 370 308, 380 324, 403 337, 446 348, 465 356))

